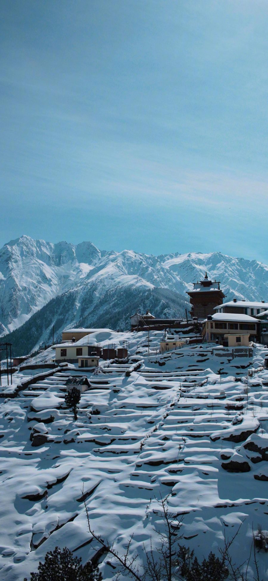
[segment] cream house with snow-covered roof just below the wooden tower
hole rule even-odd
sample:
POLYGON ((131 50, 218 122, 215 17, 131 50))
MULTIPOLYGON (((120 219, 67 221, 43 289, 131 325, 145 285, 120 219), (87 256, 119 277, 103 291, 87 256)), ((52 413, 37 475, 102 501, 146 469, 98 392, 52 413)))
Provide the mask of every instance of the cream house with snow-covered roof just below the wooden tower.
MULTIPOLYGON (((237 338, 237 343, 241 345, 241 342, 245 339, 241 339, 239 342, 238 337, 241 338, 243 333, 249 335, 249 341, 256 341, 259 338, 259 321, 244 314, 234 314, 234 313, 215 313, 213 315, 208 315, 207 319, 203 321, 204 327, 202 329, 201 335, 207 342, 217 342, 223 345, 229 338, 224 339, 224 335, 235 335, 237 338)), ((231 341, 231 339, 230 339, 231 341)))

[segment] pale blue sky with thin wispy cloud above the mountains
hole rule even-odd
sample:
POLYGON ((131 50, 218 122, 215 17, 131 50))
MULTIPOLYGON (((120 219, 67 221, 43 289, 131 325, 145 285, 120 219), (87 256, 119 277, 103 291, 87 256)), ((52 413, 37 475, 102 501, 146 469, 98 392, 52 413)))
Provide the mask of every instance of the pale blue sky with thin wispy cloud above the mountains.
POLYGON ((267 0, 2 0, 0 245, 268 264, 267 0))

